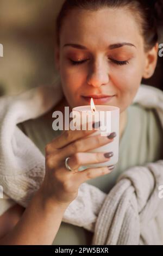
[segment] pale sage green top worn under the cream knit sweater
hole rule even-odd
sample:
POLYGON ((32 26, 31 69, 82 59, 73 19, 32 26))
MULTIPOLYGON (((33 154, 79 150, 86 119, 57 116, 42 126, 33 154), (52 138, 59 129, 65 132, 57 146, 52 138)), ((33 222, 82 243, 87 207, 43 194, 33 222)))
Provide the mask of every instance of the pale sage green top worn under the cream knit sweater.
MULTIPOLYGON (((119 160, 110 174, 86 181, 108 193, 117 177, 130 167, 160 160, 163 152, 162 127, 155 109, 145 109, 138 104, 127 109, 128 121, 120 140, 119 160)), ((52 119, 44 115, 18 124, 18 127, 45 155, 45 145, 61 132, 52 129, 52 119)), ((93 233, 84 228, 61 222, 53 245, 90 245, 93 233)))

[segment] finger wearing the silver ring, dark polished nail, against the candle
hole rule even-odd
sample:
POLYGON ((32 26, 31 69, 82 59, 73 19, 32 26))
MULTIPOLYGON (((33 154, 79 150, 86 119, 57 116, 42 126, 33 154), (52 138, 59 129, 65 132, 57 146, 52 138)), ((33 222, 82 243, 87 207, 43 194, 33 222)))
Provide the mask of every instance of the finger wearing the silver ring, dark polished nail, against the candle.
POLYGON ((114 154, 110 153, 77 153, 70 157, 68 165, 74 172, 78 172, 80 166, 86 164, 104 163, 110 160, 114 154))

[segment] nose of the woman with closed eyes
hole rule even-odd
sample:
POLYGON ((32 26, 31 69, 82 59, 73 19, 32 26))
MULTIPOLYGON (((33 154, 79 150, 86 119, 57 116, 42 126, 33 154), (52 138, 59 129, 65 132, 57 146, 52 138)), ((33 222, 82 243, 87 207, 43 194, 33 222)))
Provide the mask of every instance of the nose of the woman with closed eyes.
POLYGON ((109 83, 108 66, 105 63, 95 63, 87 76, 87 84, 94 87, 100 87, 109 83))

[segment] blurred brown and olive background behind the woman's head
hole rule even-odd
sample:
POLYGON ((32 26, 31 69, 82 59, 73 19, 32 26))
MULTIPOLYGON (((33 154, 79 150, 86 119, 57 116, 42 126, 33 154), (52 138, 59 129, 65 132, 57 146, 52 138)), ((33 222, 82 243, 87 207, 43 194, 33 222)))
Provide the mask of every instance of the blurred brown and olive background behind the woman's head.
MULTIPOLYGON (((28 88, 52 84, 58 74, 54 64, 55 19, 64 0, 0 0, 0 95, 15 95, 28 88)), ((160 43, 163 28, 160 27, 160 43)), ((163 90, 163 57, 150 80, 163 90)))

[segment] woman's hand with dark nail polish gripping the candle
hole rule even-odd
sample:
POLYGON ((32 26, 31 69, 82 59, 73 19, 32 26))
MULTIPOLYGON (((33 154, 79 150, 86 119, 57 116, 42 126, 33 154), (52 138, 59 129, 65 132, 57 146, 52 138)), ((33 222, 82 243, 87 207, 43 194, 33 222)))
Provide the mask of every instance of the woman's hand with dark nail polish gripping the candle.
MULTIPOLYGON (((101 167, 78 171, 80 166, 107 162, 112 156, 109 153, 87 153, 114 140, 100 134, 87 137, 94 132, 94 129, 65 131, 46 145, 46 174, 42 186, 48 200, 68 206, 78 196, 78 188, 83 182, 111 172, 112 166, 110 169, 101 167), (68 165, 73 171, 68 171, 65 167, 67 157, 70 157, 68 165)), ((113 137, 115 136, 116 134, 113 137)))

